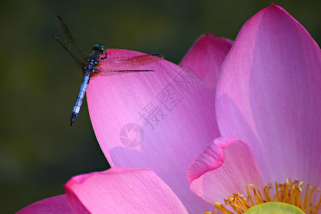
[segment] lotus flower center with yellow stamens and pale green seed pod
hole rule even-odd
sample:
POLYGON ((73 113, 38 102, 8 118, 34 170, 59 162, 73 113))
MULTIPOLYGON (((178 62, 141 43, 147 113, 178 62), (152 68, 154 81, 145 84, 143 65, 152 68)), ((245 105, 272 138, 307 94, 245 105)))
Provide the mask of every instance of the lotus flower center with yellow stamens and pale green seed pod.
MULTIPOLYGON (((300 208, 300 210, 302 210, 302 212, 304 213, 310 212, 317 214, 317 210, 321 209, 321 194, 320 200, 317 203, 317 205, 312 205, 312 202, 310 201, 313 193, 315 193, 315 190, 317 190, 317 192, 320 193, 320 188, 318 187, 312 187, 308 183, 305 188, 304 198, 302 200, 302 192, 304 190, 303 181, 299 183, 298 179, 295 179, 295 181, 292 182, 290 178, 287 178, 285 180, 285 183, 280 184, 275 182, 274 186, 275 195, 271 195, 270 193, 270 190, 273 190, 272 183, 269 183, 267 186, 265 186, 265 199, 263 199, 260 190, 256 189, 252 184, 249 184, 246 186, 249 201, 245 198, 244 195, 240 193, 233 193, 233 195, 230 195, 228 199, 224 199, 224 203, 225 205, 228 205, 230 208, 232 208, 230 210, 234 210, 234 213, 237 214, 264 213, 263 210, 270 210, 270 212, 266 213, 277 213, 275 212, 275 210, 280 209, 285 210, 286 212, 288 210, 287 213, 295 213, 293 209, 297 208, 300 208), (252 189, 253 194, 250 194, 249 187, 252 189), (269 205, 265 205, 265 203, 269 203, 269 205), (261 208, 259 208, 260 206, 261 208), (292 208, 293 206, 297 208, 292 208)), ((215 202, 215 212, 217 213, 218 210, 220 210, 220 212, 222 212, 223 214, 233 214, 233 212, 225 208, 225 205, 219 202, 215 202)), ((210 213, 212 212, 205 212, 204 214, 210 213)))

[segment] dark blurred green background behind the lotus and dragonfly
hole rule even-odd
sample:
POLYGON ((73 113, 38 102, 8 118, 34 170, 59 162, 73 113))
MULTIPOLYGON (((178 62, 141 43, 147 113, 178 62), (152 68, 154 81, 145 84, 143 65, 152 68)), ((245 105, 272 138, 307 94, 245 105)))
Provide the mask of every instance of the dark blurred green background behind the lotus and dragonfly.
MULTIPOLYGON (((59 14, 87 51, 160 53, 179 63, 198 36, 235 39, 271 1, 0 1, 0 213, 63 193, 73 175, 109 167, 86 102, 71 128, 81 71, 52 38, 59 14)), ((273 1, 320 42, 320 1, 273 1)), ((113 106, 111 106, 113 108, 113 106)))

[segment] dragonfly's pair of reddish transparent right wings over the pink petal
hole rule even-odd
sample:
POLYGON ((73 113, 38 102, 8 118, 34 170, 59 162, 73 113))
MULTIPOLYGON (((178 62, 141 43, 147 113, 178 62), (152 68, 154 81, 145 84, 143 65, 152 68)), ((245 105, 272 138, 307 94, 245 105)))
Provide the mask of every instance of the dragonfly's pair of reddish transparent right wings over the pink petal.
POLYGON ((96 70, 99 75, 114 75, 120 72, 141 72, 152 70, 133 70, 140 66, 147 66, 151 63, 156 63, 164 58, 161 54, 144 54, 140 56, 128 56, 128 57, 108 57, 102 59, 96 70))

